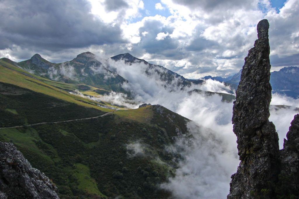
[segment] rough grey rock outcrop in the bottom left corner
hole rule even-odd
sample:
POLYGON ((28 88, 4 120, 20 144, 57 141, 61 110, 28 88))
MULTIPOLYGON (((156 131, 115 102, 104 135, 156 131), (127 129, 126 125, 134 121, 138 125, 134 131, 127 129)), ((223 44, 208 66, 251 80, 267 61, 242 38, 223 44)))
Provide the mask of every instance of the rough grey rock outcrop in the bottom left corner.
POLYGON ((59 199, 57 187, 12 143, 0 142, 0 199, 59 199))

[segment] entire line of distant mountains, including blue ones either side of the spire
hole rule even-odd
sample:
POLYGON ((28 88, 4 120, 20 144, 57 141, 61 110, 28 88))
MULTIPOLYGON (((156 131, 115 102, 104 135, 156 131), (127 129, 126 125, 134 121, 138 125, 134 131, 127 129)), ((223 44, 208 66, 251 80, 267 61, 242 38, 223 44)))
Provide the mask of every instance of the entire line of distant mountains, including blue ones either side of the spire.
MULTIPOLYGON (((177 86, 183 89, 185 86, 189 87, 192 84, 203 84, 205 80, 212 79, 219 82, 224 82, 226 86, 230 86, 233 90, 237 89, 241 77, 242 69, 227 78, 219 76, 205 76, 203 79, 187 79, 163 66, 148 63, 143 59, 132 56, 129 53, 118 54, 108 60, 103 60, 101 63, 96 59, 95 55, 91 52, 84 52, 77 55, 71 61, 64 63, 51 63, 42 58, 39 54, 33 55, 29 60, 14 62, 7 58, 1 60, 18 66, 32 74, 40 77, 48 78, 55 81, 61 81, 71 84, 86 84, 94 86, 99 89, 106 90, 105 92, 115 91, 122 92, 130 96, 130 92, 123 89, 123 83, 128 80, 118 74, 117 69, 109 65, 109 60, 124 61, 124 64, 132 65, 134 63, 142 63, 146 67, 144 73, 150 77, 159 77, 164 86, 177 86)), ((272 92, 284 94, 293 98, 299 97, 299 68, 298 67, 285 67, 279 72, 271 73, 270 83, 272 85, 272 92)), ((101 91, 99 94, 103 93, 101 91)))

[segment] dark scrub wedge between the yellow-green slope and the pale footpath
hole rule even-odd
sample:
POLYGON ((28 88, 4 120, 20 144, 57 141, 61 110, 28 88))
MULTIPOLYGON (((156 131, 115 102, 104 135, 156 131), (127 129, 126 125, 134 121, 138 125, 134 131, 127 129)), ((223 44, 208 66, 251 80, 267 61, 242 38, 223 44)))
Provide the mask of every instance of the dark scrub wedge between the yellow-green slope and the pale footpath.
POLYGON ((100 116, 104 112, 0 82, 0 127, 100 116), (15 114, 12 111, 14 110, 15 114))

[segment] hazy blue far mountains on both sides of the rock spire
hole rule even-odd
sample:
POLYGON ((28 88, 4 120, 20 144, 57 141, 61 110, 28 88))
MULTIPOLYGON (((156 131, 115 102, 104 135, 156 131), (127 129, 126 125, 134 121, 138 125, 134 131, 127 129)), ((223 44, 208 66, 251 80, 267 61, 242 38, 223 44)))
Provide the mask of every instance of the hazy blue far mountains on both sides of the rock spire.
MULTIPOLYGON (((239 84, 242 69, 228 78, 205 76, 204 79, 213 79, 220 82, 239 84)), ((299 67, 290 66, 271 72, 270 83, 272 93, 279 93, 292 98, 299 98, 299 67)))

